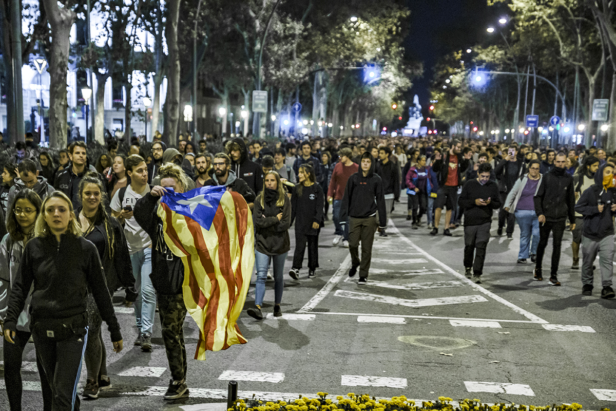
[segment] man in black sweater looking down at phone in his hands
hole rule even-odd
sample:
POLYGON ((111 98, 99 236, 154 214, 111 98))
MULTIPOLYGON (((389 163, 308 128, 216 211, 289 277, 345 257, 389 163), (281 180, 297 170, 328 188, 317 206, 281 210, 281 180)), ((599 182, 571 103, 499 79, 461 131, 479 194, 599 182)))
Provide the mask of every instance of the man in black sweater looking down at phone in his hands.
POLYGON ((498 184, 490 180, 491 173, 490 163, 480 164, 477 178, 464 184, 459 200, 464 209, 464 275, 477 284, 484 271, 492 213, 501 206, 498 184))

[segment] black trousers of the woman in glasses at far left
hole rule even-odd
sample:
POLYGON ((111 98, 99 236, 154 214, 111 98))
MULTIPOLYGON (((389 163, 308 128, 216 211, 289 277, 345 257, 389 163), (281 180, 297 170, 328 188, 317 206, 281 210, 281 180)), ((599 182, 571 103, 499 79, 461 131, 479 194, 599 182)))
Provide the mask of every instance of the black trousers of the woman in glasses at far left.
MULTIPOLYGON (((30 335, 30 332, 17 330, 13 339, 15 344, 4 340, 2 352, 4 357, 4 385, 6 386, 6 395, 9 397, 10 411, 22 411, 22 356, 30 335)), ((51 411, 53 394, 38 356, 36 356, 36 368, 38 368, 41 389, 43 390, 43 411, 51 411)))

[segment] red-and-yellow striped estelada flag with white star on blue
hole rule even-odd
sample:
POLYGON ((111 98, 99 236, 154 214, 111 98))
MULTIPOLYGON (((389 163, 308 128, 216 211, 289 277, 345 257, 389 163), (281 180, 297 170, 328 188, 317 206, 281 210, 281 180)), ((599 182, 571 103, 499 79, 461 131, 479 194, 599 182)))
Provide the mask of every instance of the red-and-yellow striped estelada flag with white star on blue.
POLYGON ((220 186, 168 193, 158 216, 167 246, 184 263, 184 303, 200 330, 195 359, 246 343, 236 324, 254 265, 253 216, 244 198, 220 186))

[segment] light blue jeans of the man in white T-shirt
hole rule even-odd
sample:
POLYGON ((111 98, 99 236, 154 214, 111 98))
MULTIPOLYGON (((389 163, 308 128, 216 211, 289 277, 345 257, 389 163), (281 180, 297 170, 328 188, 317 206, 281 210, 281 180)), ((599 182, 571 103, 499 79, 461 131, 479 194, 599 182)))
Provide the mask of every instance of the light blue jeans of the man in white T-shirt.
POLYGON ((135 301, 135 319, 140 333, 152 335, 156 312, 156 290, 152 285, 152 248, 144 248, 131 254, 132 275, 139 295, 135 301))

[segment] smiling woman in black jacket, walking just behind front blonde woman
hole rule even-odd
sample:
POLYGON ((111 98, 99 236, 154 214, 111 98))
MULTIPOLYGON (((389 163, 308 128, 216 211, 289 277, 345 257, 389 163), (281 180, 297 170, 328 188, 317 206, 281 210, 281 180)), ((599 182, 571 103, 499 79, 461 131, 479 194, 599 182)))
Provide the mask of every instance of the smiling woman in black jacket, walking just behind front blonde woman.
MULTIPOLYGON (((77 218, 81 232, 99 252, 109 294, 113 296, 121 286, 126 288, 126 301, 134 302, 137 299, 135 277, 132 275, 124 230, 120 222, 105 210, 107 194, 96 174, 87 173, 83 176, 79 182, 79 198, 82 208, 77 211, 77 218)), ((89 338, 84 355, 87 378, 86 388, 81 395, 97 398, 100 389, 111 388, 111 381, 107 376, 107 351, 100 330, 102 319, 92 293, 87 296, 87 313, 89 338)))

